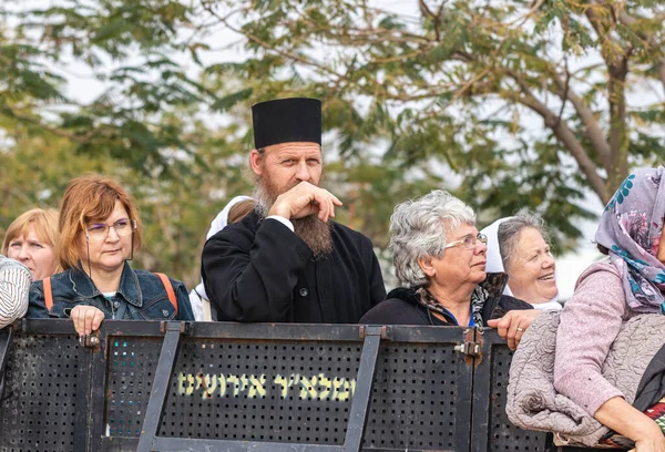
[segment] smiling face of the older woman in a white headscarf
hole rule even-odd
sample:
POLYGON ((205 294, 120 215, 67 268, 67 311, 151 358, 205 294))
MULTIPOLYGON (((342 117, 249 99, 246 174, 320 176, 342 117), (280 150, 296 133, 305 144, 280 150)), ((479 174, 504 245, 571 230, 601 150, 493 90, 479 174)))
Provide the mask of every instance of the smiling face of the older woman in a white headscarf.
POLYGON ((550 301, 559 294, 554 267, 550 245, 541 233, 532 227, 524 228, 508 260, 508 285, 516 298, 526 302, 550 301))

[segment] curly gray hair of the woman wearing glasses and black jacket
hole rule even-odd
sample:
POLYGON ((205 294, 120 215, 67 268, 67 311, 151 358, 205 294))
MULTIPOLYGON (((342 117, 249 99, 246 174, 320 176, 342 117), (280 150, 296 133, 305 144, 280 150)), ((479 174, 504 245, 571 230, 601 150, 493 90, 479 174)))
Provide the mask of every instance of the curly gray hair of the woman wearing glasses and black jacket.
POLYGON ((475 213, 442 189, 398 204, 390 216, 388 248, 392 253, 395 274, 400 285, 427 285, 427 276, 418 259, 426 256, 441 258, 448 232, 464 223, 475 224, 475 213))

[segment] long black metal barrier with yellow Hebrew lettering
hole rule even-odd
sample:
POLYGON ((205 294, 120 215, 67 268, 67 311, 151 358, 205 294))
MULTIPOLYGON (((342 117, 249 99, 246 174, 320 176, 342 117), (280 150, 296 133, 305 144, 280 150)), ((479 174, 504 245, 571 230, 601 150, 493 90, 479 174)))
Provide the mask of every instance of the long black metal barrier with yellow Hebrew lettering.
POLYGON ((505 415, 511 356, 454 327, 104 321, 84 346, 21 320, 0 451, 545 451, 505 415))

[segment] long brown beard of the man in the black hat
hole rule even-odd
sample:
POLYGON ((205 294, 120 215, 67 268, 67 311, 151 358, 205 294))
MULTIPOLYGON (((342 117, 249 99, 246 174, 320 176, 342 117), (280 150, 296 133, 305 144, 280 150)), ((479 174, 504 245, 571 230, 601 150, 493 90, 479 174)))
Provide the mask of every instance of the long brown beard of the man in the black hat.
MULTIPOLYGON (((268 212, 270 210, 270 207, 273 207, 273 204, 275 204, 275 201, 277 201, 277 196, 290 188, 293 187, 280 189, 274 186, 269 179, 259 178, 256 184, 256 191, 254 192, 256 212, 263 218, 268 216, 268 212)), ((294 225, 296 235, 314 251, 315 257, 321 257, 332 253, 332 224, 330 220, 324 223, 316 214, 314 214, 304 218, 293 218, 290 222, 294 225)))

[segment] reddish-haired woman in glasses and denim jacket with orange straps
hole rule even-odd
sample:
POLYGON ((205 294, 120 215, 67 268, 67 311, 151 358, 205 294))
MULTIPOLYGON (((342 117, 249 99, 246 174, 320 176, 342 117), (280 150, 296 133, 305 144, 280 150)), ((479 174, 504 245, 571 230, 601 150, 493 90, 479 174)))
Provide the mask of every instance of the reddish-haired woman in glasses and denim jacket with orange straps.
POLYGON ((96 175, 71 181, 59 226, 64 271, 32 284, 28 317, 69 317, 80 336, 103 319, 194 319, 183 282, 127 264, 143 230, 134 199, 119 184, 96 175))

